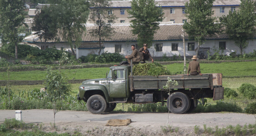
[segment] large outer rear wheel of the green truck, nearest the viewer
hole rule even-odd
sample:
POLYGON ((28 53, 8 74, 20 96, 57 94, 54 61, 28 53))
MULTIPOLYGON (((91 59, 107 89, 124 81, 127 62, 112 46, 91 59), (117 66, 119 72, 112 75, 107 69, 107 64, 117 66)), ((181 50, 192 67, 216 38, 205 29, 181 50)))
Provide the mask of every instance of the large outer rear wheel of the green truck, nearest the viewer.
POLYGON ((188 95, 182 92, 174 92, 167 99, 167 108, 174 114, 182 114, 188 111, 190 100, 188 95), (170 105, 169 105, 170 103, 170 105))

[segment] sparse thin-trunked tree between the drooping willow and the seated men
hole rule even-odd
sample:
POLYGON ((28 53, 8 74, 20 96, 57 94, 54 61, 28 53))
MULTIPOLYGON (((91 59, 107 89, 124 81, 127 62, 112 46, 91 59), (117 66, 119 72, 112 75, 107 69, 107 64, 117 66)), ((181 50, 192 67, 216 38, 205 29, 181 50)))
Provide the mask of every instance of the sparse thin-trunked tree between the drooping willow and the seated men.
POLYGON ((111 24, 116 20, 116 16, 112 14, 111 1, 110 0, 92 0, 91 4, 91 16, 90 19, 95 22, 95 29, 90 32, 93 36, 99 38, 99 55, 101 52, 101 41, 114 33, 111 24), (108 21, 108 22, 106 22, 108 21))

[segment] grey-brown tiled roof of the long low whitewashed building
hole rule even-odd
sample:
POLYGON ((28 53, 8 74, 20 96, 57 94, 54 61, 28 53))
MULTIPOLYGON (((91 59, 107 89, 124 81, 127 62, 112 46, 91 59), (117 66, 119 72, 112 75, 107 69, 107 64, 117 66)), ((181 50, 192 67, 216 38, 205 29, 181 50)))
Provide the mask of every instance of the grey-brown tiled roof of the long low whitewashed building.
MULTIPOLYGON (((161 24, 159 25, 160 29, 154 35, 154 41, 162 41, 162 40, 182 40, 182 24, 161 24)), ((114 28, 114 33, 110 34, 109 38, 105 38, 104 41, 136 41, 137 36, 133 35, 131 32, 132 28, 130 26, 112 26, 114 28)), ((87 26, 86 34, 82 35, 83 42, 96 42, 98 39, 90 34, 96 26, 87 26)), ((40 39, 28 38, 25 41, 32 42, 40 42, 40 39)), ((212 37, 207 37, 207 39, 227 39, 228 36, 226 34, 216 34, 212 37)), ((185 39, 188 39, 188 35, 185 33, 185 39)), ((43 39, 42 39, 43 42, 43 39)), ((62 38, 48 40, 47 42, 67 42, 62 38)))

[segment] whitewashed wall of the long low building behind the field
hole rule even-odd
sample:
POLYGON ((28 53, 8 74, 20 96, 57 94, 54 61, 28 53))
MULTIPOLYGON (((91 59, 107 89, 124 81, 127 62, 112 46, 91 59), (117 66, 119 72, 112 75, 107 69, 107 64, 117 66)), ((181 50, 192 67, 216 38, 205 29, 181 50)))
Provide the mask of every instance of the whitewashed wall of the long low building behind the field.
MULTIPOLYGON (((198 47, 198 43, 195 41, 185 41, 185 48, 186 48, 186 56, 193 56, 195 55, 195 51, 188 51, 188 43, 194 42, 195 46, 194 49, 198 47)), ((119 54, 126 56, 130 55, 132 53, 131 45, 135 45, 137 42, 104 42, 105 48, 101 50, 101 53, 103 52, 115 52, 115 45, 121 45, 122 49, 119 54)), ((243 51, 245 53, 253 52, 256 50, 256 39, 248 40, 248 47, 244 49, 243 51)), ((33 47, 41 48, 41 45, 44 45, 43 43, 28 43, 28 45, 31 45, 33 47)), ((64 47, 65 50, 70 50, 70 47, 67 45, 67 43, 48 43, 47 44, 49 48, 56 47, 57 49, 61 49, 61 47, 64 47)), ((241 54, 239 47, 237 47, 234 43, 234 41, 229 39, 215 39, 215 40, 207 40, 204 44, 200 45, 200 47, 210 47, 210 55, 213 55, 215 53, 215 49, 219 50, 219 53, 226 53, 231 52, 231 50, 234 50, 237 52, 237 54, 241 54), (219 50, 219 42, 226 42, 226 49, 225 50, 219 50), (223 52, 222 52, 223 51, 223 52)), ((139 48, 137 48, 139 50, 139 48)), ((174 40, 174 41, 153 41, 153 44, 150 48, 148 48, 150 54, 152 57, 162 57, 164 54, 166 56, 183 56, 183 41, 182 40, 174 40), (178 43, 178 51, 172 51, 172 43, 178 43), (156 44, 163 44, 162 51, 156 51, 154 48, 156 44)), ((98 54, 99 49, 77 49, 76 50, 76 57, 79 58, 82 55, 87 56, 88 54, 98 54)))

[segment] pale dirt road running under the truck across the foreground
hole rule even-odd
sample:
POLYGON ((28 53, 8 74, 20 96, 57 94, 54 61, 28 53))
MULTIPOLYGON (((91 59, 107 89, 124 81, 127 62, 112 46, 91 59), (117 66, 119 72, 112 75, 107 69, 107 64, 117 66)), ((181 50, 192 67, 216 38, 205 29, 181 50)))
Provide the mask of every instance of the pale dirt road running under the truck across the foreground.
MULTIPOLYGON (((0 110, 0 123, 5 118, 15 118, 15 110, 0 110)), ((79 130, 85 135, 136 135, 138 132, 145 135, 158 135, 162 133, 161 126, 166 126, 167 118, 168 113, 111 112, 93 115, 90 112, 59 111, 56 113, 55 122, 59 133, 79 130), (109 119, 131 119, 133 122, 129 126, 105 126, 109 119)), ((25 123, 37 124, 42 122, 45 131, 51 131, 49 124, 53 123, 53 110, 22 110, 22 120, 25 123)), ((193 133, 194 125, 199 125, 203 129, 203 124, 206 124, 207 127, 255 124, 255 118, 254 115, 244 113, 190 113, 179 115, 170 113, 168 124, 172 128, 179 127, 179 134, 177 135, 187 135, 187 133, 193 133)))

